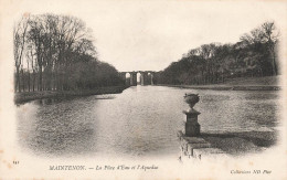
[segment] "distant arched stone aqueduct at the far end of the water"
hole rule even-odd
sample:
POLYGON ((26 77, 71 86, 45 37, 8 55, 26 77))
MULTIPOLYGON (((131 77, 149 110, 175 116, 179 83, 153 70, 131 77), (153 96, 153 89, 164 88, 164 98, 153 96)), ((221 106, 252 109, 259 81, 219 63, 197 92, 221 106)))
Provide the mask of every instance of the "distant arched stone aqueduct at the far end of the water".
POLYGON ((152 71, 134 71, 134 72, 120 72, 120 77, 125 80, 126 85, 136 86, 138 85, 137 74, 139 73, 139 84, 140 85, 153 85, 153 76, 156 72, 152 71), (127 77, 129 74, 129 77, 127 77))

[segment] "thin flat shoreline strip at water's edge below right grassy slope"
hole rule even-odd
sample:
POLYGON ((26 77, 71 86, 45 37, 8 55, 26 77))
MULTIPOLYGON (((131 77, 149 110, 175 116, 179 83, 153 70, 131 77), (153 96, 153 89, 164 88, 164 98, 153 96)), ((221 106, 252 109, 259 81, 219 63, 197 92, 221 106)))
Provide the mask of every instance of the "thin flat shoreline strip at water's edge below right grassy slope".
POLYGON ((157 84, 156 86, 192 88, 192 89, 213 89, 213 91, 280 91, 280 86, 269 85, 170 85, 157 84))

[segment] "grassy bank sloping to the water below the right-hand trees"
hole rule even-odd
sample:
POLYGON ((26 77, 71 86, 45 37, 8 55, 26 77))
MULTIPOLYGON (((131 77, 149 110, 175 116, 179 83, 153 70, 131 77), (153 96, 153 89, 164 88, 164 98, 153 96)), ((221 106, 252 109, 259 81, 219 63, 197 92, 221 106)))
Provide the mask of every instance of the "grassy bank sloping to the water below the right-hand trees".
POLYGON ((267 77, 242 77, 227 80, 222 84, 210 85, 170 85, 158 84, 159 86, 193 88, 193 89, 215 89, 215 91, 279 91, 281 76, 267 77))

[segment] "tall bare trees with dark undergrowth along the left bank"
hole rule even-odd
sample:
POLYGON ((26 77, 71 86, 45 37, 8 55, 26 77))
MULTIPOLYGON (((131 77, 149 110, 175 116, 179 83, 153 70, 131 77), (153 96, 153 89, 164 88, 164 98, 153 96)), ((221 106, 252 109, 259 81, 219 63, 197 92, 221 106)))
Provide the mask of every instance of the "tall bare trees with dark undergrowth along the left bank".
POLYGON ((24 14, 13 30, 14 91, 68 91, 124 84, 96 57, 92 31, 68 15, 24 14))

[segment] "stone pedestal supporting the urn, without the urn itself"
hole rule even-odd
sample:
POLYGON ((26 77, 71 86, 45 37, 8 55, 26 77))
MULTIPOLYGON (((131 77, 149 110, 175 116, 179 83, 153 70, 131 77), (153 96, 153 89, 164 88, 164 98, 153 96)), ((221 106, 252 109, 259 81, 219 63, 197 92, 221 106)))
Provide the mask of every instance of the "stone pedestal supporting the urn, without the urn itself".
POLYGON ((183 112, 187 115, 185 121, 185 136, 195 137, 200 136, 200 124, 198 121, 199 112, 193 108, 183 112))

